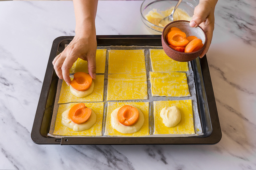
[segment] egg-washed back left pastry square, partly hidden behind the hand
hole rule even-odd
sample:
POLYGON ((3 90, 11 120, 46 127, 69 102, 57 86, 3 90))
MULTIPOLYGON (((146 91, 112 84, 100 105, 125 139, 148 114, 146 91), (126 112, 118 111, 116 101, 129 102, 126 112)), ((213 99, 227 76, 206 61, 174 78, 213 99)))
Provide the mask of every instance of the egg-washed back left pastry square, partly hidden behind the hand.
MULTIPOLYGON (((96 73, 105 73, 106 65, 106 54, 107 49, 97 49, 96 51, 96 73)), ((87 61, 78 58, 77 61, 73 64, 69 73, 85 72, 88 73, 87 61)))

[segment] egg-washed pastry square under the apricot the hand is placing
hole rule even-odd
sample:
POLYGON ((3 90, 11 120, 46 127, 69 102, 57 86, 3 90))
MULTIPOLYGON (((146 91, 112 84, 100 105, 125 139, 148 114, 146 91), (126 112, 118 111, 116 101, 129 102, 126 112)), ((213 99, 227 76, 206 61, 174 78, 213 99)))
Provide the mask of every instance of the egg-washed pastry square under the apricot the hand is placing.
MULTIPOLYGON (((72 80, 72 78, 71 78, 72 80)), ((67 83, 63 80, 61 85, 61 91, 59 95, 58 104, 70 103, 70 102, 98 102, 103 101, 104 93, 104 75, 96 75, 94 82, 94 90, 92 94, 79 98, 71 94, 70 88, 67 83)))

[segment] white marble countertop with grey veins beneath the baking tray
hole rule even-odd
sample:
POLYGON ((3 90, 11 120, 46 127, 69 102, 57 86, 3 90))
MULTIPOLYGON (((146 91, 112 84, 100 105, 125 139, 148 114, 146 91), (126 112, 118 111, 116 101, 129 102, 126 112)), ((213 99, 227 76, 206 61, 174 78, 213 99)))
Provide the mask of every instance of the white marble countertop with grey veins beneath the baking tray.
MULTIPOLYGON (((142 1, 99 1, 97 35, 151 34, 142 1), (130 26, 127 26, 129 23, 130 26)), ((256 169, 256 1, 219 1, 207 53, 216 145, 61 146, 30 139, 53 40, 74 35, 72 1, 0 1, 0 169, 256 169)))

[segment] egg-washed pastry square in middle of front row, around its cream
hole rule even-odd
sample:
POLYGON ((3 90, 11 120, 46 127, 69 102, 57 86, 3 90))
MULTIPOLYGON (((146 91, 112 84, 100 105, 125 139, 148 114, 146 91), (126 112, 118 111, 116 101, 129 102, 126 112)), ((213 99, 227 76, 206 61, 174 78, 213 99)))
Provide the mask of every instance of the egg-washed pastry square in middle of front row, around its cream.
POLYGON ((106 115, 106 127, 105 127, 105 136, 147 136, 149 135, 149 124, 148 124, 148 115, 149 115, 149 103, 148 102, 108 102, 108 110, 106 115), (111 126, 111 113, 113 110, 122 107, 124 105, 131 105, 137 107, 141 110, 144 114, 144 124, 141 129, 135 133, 120 133, 119 131, 115 130, 111 126))

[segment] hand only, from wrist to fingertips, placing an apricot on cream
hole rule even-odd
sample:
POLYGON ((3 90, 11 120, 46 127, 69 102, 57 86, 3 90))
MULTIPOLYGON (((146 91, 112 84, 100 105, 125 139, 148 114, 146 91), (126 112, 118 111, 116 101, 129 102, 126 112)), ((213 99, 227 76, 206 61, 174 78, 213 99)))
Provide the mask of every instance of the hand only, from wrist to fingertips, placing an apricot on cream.
POLYGON ((67 85, 70 85, 69 69, 73 66, 78 58, 88 62, 88 73, 96 78, 96 34, 94 31, 89 32, 89 36, 80 36, 76 34, 69 45, 52 61, 57 76, 64 79, 67 85))

